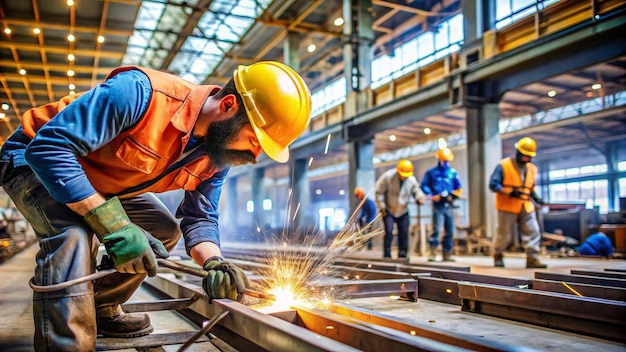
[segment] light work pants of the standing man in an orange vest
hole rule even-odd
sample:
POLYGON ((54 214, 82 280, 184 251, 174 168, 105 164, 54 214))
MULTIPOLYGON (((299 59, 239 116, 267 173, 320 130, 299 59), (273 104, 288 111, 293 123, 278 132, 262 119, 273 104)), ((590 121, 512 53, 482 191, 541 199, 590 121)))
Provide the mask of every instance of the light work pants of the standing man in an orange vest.
POLYGON ((527 213, 523 208, 519 214, 498 211, 498 234, 494 251, 502 254, 515 243, 516 227, 519 229, 526 256, 529 259, 537 258, 541 242, 539 223, 534 211, 527 213))

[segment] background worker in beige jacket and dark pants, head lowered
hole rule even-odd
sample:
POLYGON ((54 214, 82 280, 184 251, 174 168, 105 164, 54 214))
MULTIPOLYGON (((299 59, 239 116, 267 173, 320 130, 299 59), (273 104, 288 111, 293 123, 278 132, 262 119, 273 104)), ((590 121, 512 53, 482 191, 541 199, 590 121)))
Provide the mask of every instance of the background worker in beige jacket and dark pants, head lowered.
POLYGON ((383 257, 391 258, 393 226, 398 227, 398 258, 406 258, 409 233, 409 202, 413 198, 418 206, 426 197, 413 176, 413 163, 401 160, 395 169, 385 171, 376 181, 376 203, 385 224, 383 257))

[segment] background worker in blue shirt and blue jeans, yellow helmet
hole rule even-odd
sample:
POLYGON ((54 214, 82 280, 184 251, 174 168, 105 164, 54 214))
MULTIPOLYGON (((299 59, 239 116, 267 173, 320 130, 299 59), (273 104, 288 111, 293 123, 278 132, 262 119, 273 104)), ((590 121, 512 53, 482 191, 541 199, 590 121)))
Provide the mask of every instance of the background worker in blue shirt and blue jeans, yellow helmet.
POLYGON ((443 225, 445 231, 441 241, 443 261, 453 262, 452 241, 455 229, 453 203, 461 196, 461 181, 457 171, 449 165, 454 160, 454 154, 449 148, 439 149, 437 160, 437 166, 426 171, 421 182, 422 191, 433 201, 433 233, 428 239, 430 247, 428 260, 432 262, 436 259, 439 234, 443 225))

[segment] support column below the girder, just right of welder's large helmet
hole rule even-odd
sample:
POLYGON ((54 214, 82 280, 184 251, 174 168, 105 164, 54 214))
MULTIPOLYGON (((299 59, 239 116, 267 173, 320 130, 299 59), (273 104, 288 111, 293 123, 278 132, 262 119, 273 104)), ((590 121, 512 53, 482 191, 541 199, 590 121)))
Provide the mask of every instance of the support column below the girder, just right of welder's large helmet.
POLYGON ((289 212, 287 213, 287 228, 290 230, 289 237, 294 230, 314 225, 315 214, 311 212, 311 187, 307 176, 309 160, 306 158, 295 159, 290 165, 291 175, 291 198, 289 199, 289 212), (295 215, 295 216, 294 216, 295 215))

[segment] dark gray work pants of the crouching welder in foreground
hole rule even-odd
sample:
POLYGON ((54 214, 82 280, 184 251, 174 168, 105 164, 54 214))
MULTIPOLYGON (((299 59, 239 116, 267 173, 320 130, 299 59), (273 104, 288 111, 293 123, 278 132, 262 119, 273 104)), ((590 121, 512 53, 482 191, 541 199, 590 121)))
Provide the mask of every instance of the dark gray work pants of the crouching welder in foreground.
MULTIPOLYGON (((1 163, 0 181, 39 241, 35 285, 52 285, 95 272, 98 239, 82 217, 56 202, 28 167, 1 163)), ((172 250, 181 232, 153 194, 121 200, 132 222, 172 250)), ((33 295, 37 351, 94 351, 96 313, 110 316, 141 285, 146 274, 114 273, 65 290, 33 295)))

